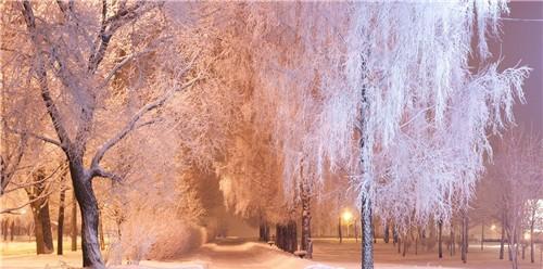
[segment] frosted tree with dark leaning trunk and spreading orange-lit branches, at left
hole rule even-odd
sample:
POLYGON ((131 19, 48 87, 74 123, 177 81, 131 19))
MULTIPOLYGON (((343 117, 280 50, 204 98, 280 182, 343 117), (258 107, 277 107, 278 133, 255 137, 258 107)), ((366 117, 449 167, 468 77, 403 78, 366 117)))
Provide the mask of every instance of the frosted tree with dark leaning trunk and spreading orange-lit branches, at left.
POLYGON ((153 124, 159 108, 175 92, 200 79, 192 68, 195 48, 186 46, 192 39, 172 35, 175 26, 161 7, 157 2, 126 1, 3 5, 13 23, 8 28, 11 40, 26 49, 20 52, 29 59, 10 64, 29 64, 30 84, 39 88, 58 137, 42 140, 62 149, 68 159, 83 216, 84 266, 103 267, 92 179, 118 180, 101 165, 105 153, 134 130, 153 124), (143 59, 154 60, 153 64, 139 62, 143 59), (138 64, 130 77, 131 87, 115 88, 112 78, 134 62, 138 64), (119 94, 138 97, 138 102, 115 118, 110 107, 123 100, 119 94), (125 117, 126 121, 117 121, 125 117), (105 130, 112 123, 116 131, 105 130), (91 145, 96 146, 92 153, 88 151, 91 145))

